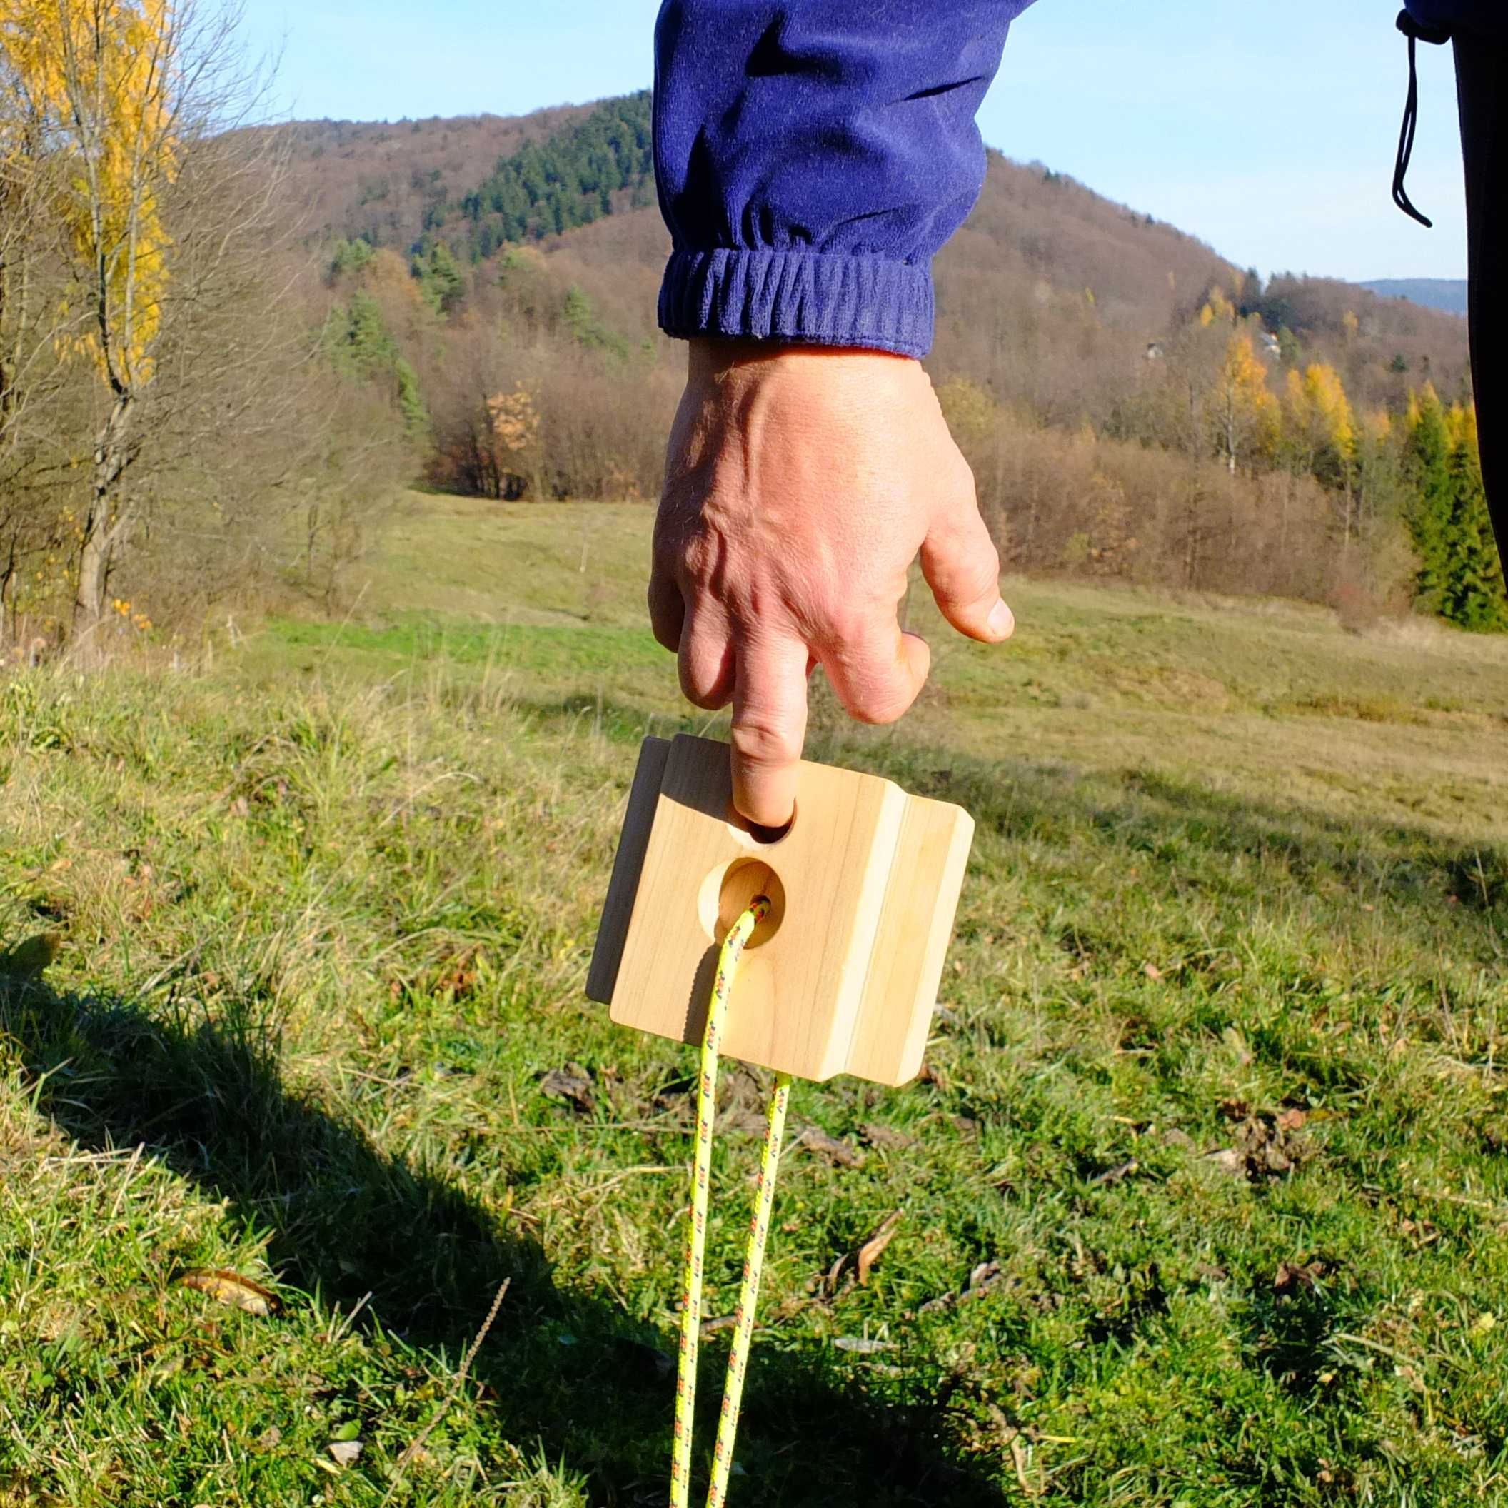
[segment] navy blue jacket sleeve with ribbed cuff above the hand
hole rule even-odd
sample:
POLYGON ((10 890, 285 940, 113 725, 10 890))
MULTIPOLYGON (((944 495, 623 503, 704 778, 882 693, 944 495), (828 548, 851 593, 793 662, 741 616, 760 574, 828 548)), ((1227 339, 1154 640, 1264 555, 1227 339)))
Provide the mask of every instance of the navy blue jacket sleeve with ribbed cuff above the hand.
POLYGON ((932 256, 985 179, 974 112, 1028 3, 665 0, 662 329, 924 356, 932 256))

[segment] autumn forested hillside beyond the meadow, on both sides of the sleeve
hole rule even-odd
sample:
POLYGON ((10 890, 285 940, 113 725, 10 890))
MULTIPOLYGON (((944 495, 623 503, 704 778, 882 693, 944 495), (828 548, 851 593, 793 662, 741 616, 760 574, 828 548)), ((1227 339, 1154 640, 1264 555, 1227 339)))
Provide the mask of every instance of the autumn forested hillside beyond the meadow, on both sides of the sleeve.
MULTIPOLYGON (((648 97, 305 131, 327 348, 430 480, 653 496, 685 353, 654 327, 648 97)), ((1508 627, 1463 320, 1241 271, 997 152, 935 273, 929 369, 1012 569, 1508 627)))

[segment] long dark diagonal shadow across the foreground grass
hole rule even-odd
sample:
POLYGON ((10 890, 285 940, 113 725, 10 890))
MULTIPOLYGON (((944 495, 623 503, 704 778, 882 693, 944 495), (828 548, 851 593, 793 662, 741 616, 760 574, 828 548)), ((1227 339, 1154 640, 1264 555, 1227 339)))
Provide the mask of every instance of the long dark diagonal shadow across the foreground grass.
MULTIPOLYGON (((229 1200, 232 1214, 271 1232, 268 1261, 285 1283, 345 1309, 371 1294, 385 1329, 454 1359, 510 1279, 472 1368, 508 1437, 588 1475, 594 1503, 665 1500, 674 1336, 558 1285, 537 1241, 288 1087, 274 1034, 249 1013, 207 1022, 0 979, 0 1030, 57 1126, 92 1149, 145 1143, 229 1200)), ((703 1368, 698 1440, 710 1449, 716 1347, 703 1368)), ((939 1407, 887 1407, 820 1356, 756 1348, 739 1500, 1004 1502, 977 1469, 949 1458, 939 1407)))

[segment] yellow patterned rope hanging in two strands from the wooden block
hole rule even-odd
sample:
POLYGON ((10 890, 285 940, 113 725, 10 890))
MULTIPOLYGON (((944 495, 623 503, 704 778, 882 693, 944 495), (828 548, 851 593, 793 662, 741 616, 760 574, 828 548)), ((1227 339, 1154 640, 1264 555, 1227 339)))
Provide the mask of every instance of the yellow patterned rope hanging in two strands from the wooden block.
MULTIPOLYGON (((697 1081, 697 1155, 691 1190, 691 1223, 686 1231, 686 1276, 682 1283, 680 1363, 676 1372, 676 1445, 670 1469, 671 1508, 689 1508, 691 1502, 691 1431, 697 1402, 697 1347, 701 1339, 701 1267, 707 1247, 707 1184, 712 1178, 712 1122, 718 1101, 718 1051, 722 1025, 728 1015, 728 995, 739 955, 754 927, 769 915, 769 900, 756 897, 733 923, 718 953, 718 973, 707 1007, 707 1028, 701 1039, 701 1074, 697 1081)), ((718 1419, 718 1443, 712 1457, 712 1485, 707 1508, 722 1508, 733 1470, 733 1439, 739 1428, 739 1405, 743 1399, 743 1374, 748 1369, 749 1344, 754 1338, 754 1309, 759 1303, 759 1280, 765 1268, 765 1246, 769 1241, 769 1214, 775 1203, 775 1172, 780 1166, 780 1143, 786 1134, 786 1105, 790 1099, 790 1075, 775 1075, 775 1092, 769 1102, 769 1126, 760 1155, 759 1184, 754 1190, 754 1218, 749 1224, 748 1252, 743 1258, 743 1285, 734 1313, 733 1350, 728 1354, 728 1375, 722 1389, 722 1413, 718 1419)))

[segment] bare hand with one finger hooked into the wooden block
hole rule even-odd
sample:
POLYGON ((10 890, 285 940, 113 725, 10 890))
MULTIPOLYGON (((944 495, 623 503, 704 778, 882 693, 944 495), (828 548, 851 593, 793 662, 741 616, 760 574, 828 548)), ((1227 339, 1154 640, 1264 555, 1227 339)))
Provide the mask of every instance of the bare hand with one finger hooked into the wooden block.
POLYGON ((988 644, 1015 623, 974 478, 921 363, 694 341, 654 525, 650 621, 698 707, 733 703, 733 801, 790 819, 816 665, 861 722, 894 722, 930 651, 896 615, 921 572, 988 644))

